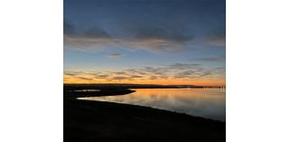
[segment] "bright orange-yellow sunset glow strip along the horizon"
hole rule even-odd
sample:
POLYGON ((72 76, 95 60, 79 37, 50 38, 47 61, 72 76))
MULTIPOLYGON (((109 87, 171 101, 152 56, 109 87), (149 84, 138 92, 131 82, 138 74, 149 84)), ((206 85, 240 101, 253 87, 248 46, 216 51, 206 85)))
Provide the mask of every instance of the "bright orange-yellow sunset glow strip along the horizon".
POLYGON ((158 84, 158 85, 197 85, 226 87, 225 79, 215 74, 207 77, 190 77, 177 79, 176 75, 154 77, 146 74, 145 76, 132 75, 125 72, 109 72, 108 74, 98 74, 98 72, 66 72, 64 73, 65 84, 93 84, 93 83, 120 83, 120 84, 158 84))

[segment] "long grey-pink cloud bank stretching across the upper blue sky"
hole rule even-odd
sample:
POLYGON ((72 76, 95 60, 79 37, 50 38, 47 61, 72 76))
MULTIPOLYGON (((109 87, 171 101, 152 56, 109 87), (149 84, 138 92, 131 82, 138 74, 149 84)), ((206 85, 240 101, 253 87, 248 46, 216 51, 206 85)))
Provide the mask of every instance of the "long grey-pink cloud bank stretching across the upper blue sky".
POLYGON ((124 33, 107 33, 97 24, 86 31, 76 32, 75 26, 64 21, 64 43, 76 48, 96 50, 108 46, 121 46, 129 50, 150 52, 175 52, 182 50, 182 44, 194 40, 194 36, 177 28, 126 29, 124 33))

